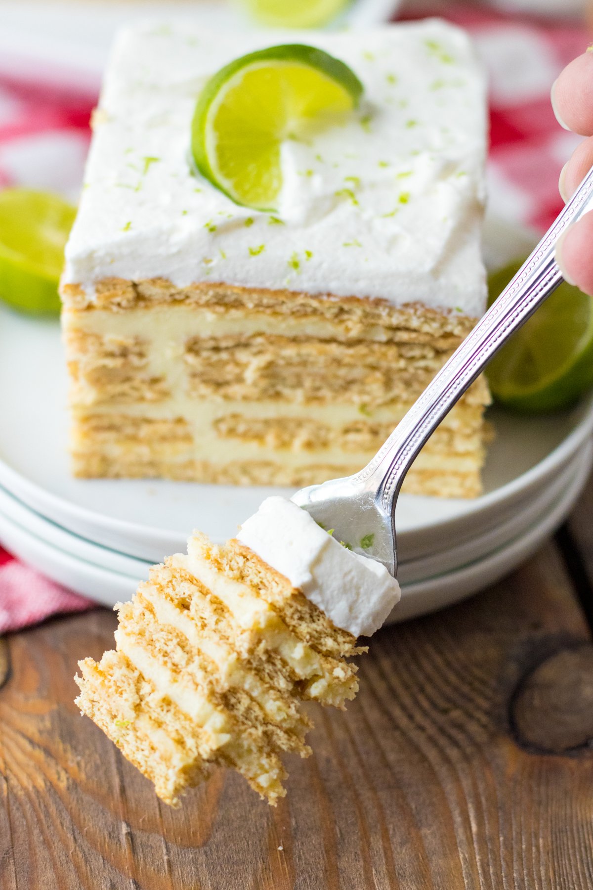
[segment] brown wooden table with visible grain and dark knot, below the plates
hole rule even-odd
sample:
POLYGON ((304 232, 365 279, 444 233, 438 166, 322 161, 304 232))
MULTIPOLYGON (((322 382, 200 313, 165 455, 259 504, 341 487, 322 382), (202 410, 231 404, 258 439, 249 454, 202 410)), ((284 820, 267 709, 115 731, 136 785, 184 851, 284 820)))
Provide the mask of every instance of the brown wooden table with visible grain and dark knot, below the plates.
POLYGON ((219 772, 172 810, 79 715, 76 660, 112 613, 9 635, 0 887, 591 890, 592 579, 593 483, 509 578, 373 638, 276 809, 219 772))

